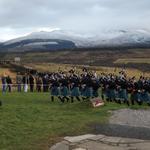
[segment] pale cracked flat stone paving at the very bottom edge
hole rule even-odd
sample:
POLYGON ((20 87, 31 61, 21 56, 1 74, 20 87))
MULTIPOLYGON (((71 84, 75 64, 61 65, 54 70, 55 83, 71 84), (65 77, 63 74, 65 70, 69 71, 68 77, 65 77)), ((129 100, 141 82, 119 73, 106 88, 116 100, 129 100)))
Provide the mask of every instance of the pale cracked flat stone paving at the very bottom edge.
POLYGON ((150 150, 150 141, 87 134, 65 137, 50 150, 150 150))

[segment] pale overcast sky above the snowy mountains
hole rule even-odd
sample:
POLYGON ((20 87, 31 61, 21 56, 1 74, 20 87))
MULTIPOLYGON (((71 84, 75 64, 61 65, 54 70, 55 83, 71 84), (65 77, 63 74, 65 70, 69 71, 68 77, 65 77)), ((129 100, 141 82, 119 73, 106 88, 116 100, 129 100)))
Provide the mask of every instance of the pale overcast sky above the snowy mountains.
POLYGON ((0 40, 53 29, 150 29, 150 0, 0 0, 0 40))

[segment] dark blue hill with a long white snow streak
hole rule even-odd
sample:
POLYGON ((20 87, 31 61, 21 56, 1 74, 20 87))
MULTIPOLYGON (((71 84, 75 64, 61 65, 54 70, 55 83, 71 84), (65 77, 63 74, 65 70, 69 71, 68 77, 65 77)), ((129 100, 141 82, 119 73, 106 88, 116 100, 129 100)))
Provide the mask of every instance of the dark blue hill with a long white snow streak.
POLYGON ((12 43, 0 44, 1 52, 25 52, 25 51, 47 51, 74 49, 72 41, 59 39, 22 39, 12 43))

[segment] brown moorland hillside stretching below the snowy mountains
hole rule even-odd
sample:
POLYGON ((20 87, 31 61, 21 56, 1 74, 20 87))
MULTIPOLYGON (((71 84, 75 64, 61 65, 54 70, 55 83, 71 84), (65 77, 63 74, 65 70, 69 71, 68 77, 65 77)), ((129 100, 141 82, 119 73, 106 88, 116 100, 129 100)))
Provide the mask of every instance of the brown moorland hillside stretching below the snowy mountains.
POLYGON ((90 49, 53 52, 0 53, 4 60, 20 57, 22 63, 57 63, 104 67, 150 68, 150 49, 90 49), (148 61, 147 61, 148 60, 148 61))

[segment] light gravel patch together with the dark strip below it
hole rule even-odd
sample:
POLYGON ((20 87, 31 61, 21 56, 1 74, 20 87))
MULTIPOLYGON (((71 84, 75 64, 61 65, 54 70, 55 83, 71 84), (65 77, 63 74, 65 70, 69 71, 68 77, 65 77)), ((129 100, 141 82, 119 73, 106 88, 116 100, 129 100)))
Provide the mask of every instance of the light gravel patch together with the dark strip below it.
POLYGON ((112 111, 109 124, 95 124, 95 134, 150 140, 150 110, 112 111))

